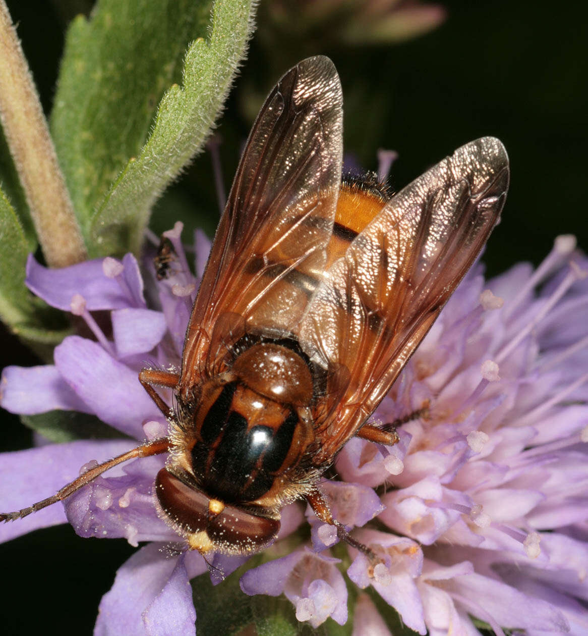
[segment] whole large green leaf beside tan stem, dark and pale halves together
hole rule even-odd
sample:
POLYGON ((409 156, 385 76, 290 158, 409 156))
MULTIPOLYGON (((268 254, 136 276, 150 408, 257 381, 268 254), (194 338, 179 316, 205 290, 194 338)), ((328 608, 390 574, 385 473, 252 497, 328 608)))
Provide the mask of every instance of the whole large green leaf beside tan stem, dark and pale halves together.
POLYGON ((211 29, 212 3, 194 0, 100 0, 90 20, 72 22, 51 129, 91 256, 138 251, 151 205, 226 97, 254 4, 217 0, 211 29), (158 107, 188 46, 184 86, 158 107))

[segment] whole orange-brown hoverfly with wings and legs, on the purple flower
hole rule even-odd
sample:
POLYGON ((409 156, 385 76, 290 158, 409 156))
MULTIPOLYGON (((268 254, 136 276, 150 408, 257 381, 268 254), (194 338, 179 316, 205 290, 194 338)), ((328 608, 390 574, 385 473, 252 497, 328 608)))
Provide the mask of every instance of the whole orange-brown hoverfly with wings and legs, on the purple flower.
POLYGON ((303 60, 254 123, 186 332, 181 373, 139 381, 170 434, 96 466, 65 499, 120 462, 168 453, 161 517, 202 554, 273 541, 280 509, 317 488, 352 436, 392 445, 369 423, 488 239, 509 183, 500 141, 472 141, 392 198, 341 183, 341 85, 331 60, 303 60), (173 389, 172 409, 156 387, 173 389))

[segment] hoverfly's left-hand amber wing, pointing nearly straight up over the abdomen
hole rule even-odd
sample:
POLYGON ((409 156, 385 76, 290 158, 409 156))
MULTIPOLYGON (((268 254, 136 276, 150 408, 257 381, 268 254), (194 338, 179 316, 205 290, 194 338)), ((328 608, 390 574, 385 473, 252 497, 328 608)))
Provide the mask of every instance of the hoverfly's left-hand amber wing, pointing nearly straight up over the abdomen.
POLYGON ((200 380, 222 313, 274 331, 300 321, 325 270, 341 179, 342 103, 334 65, 318 56, 288 71, 261 108, 191 315, 182 392, 200 380))

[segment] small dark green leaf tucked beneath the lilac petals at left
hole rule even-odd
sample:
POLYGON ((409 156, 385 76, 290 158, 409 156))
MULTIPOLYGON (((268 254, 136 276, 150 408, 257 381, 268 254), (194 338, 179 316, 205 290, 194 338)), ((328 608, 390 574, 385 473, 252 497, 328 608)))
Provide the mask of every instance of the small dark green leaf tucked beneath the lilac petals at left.
POLYGON ((62 443, 75 439, 125 439, 126 436, 104 424, 95 415, 76 411, 48 411, 39 415, 21 415, 29 429, 50 441, 62 443))

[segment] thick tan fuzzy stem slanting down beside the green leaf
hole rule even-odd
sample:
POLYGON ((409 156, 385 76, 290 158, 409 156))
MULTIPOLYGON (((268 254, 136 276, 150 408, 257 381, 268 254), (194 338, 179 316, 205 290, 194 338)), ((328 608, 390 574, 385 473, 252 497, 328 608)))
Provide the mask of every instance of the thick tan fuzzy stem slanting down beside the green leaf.
POLYGON ((0 120, 50 267, 87 258, 47 121, 4 0, 0 0, 0 120))

